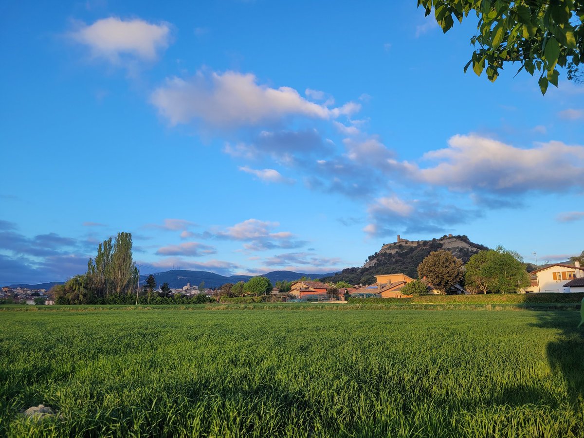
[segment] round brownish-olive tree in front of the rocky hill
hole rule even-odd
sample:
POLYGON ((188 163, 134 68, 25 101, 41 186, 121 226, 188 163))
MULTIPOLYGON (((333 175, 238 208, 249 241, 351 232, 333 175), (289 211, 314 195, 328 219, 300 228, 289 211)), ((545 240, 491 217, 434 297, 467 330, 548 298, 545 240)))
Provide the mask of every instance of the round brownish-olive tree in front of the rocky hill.
POLYGON ((426 277, 434 289, 446 294, 454 284, 463 279, 463 260, 450 251, 432 251, 418 265, 420 279, 426 277))

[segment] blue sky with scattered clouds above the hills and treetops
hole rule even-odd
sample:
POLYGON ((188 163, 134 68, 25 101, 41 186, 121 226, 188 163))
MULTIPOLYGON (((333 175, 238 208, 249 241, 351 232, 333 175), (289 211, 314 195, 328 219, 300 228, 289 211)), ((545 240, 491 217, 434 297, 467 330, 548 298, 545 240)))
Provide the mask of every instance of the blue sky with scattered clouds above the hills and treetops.
POLYGON ((4 2, 0 283, 360 266, 395 235, 584 249, 584 86, 472 72, 394 2, 4 2))

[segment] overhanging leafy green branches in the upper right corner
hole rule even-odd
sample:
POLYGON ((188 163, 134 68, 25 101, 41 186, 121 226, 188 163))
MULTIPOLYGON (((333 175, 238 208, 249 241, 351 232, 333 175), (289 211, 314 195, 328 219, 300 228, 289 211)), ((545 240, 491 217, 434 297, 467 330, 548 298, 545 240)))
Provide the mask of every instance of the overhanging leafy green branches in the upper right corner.
POLYGON ((537 70, 541 92, 558 86, 557 67, 568 67, 568 78, 581 80, 578 71, 584 51, 584 0, 418 0, 426 16, 434 18, 446 33, 454 20, 463 22, 470 13, 478 18, 473 51, 464 71, 472 65, 477 75, 486 67, 495 82, 505 64, 518 62, 519 71, 537 70))

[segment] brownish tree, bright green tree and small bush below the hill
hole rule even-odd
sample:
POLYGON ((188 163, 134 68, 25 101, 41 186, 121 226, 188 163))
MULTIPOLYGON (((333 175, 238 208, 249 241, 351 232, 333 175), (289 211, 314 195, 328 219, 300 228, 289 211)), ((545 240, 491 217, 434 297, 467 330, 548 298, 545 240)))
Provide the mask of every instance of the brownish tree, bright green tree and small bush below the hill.
POLYGON ((404 294, 427 292, 428 284, 442 294, 459 283, 470 293, 516 293, 529 286, 529 276, 522 257, 515 251, 498 246, 479 251, 466 265, 450 251, 433 251, 418 265, 420 280, 406 284, 404 294))

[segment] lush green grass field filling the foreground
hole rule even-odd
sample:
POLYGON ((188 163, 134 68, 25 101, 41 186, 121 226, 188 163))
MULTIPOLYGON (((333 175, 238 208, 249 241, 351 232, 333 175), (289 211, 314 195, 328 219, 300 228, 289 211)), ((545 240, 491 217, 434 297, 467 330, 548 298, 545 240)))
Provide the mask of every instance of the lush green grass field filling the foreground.
POLYGON ((0 312, 0 436, 584 436, 579 312, 217 309, 0 312))

